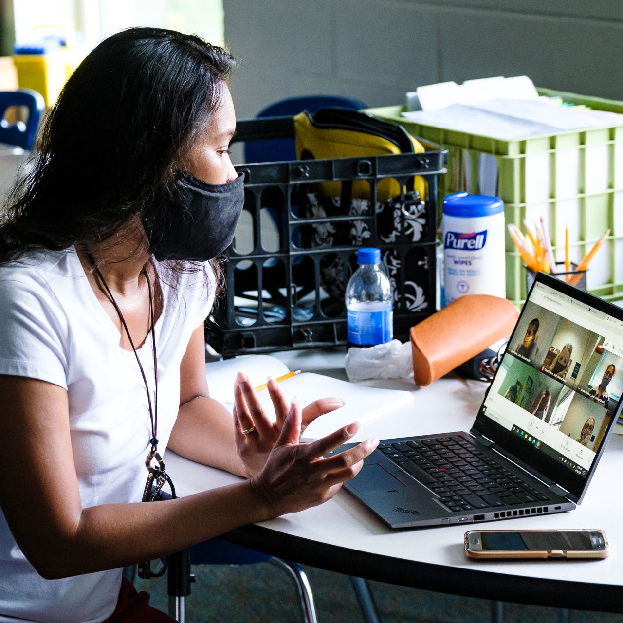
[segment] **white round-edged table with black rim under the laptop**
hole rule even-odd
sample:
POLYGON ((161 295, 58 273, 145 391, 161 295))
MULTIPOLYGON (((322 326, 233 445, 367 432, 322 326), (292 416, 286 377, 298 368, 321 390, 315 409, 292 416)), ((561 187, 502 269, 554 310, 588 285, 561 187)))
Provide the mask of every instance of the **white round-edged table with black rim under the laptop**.
MULTIPOLYGON (((293 368, 346 378, 343 353, 280 353, 293 368)), ((361 427, 356 439, 469 430, 486 385, 449 375, 428 388, 411 381, 368 381, 377 387, 411 389, 416 401, 361 427)), ((166 463, 179 495, 235 482, 231 474, 194 464, 172 452, 166 463)), ((391 530, 371 511, 340 491, 333 500, 224 536, 319 568, 404 586, 540 606, 623 612, 623 438, 612 435, 584 502, 554 515, 488 523, 391 530), (611 553, 590 561, 487 561, 465 558, 463 535, 478 528, 600 528, 611 553)))

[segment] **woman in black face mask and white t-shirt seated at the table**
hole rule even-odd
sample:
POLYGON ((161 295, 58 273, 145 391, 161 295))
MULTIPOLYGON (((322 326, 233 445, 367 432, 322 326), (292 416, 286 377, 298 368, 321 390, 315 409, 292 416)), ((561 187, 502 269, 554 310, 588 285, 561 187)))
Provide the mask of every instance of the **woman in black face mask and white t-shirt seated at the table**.
POLYGON ((120 592, 123 566, 325 502, 378 443, 323 459, 358 426, 299 444, 342 403, 302 411, 274 381, 274 425, 244 374, 233 426, 209 397, 212 258, 243 201, 232 68, 178 32, 103 41, 65 85, 0 226, 2 621, 105 621, 118 599, 110 621, 168 621, 117 616, 136 599, 120 592), (166 480, 165 447, 248 479, 140 503, 166 480))

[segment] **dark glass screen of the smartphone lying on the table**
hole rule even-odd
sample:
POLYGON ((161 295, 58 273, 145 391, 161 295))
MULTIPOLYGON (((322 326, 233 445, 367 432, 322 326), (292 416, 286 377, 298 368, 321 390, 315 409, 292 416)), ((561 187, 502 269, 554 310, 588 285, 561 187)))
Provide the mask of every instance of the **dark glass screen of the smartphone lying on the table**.
POLYGON ((604 549, 604 538, 592 531, 481 532, 483 551, 532 551, 549 549, 604 549))

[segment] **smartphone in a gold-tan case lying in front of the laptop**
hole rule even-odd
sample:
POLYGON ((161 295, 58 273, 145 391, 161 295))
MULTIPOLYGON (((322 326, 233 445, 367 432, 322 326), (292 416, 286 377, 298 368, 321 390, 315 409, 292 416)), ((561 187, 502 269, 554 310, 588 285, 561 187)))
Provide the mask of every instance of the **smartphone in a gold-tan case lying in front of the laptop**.
POLYGON ((468 558, 606 558, 603 530, 470 530, 468 558))

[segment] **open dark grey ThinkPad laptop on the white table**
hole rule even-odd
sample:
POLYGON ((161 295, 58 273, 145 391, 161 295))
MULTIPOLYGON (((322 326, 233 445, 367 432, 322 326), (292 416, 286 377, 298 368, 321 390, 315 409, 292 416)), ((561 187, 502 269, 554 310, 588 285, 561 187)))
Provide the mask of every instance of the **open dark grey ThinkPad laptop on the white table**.
POLYGON ((344 487, 392 528, 573 510, 622 394, 623 310, 539 273, 472 429, 382 440, 344 487))

